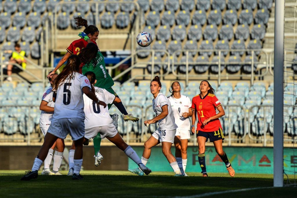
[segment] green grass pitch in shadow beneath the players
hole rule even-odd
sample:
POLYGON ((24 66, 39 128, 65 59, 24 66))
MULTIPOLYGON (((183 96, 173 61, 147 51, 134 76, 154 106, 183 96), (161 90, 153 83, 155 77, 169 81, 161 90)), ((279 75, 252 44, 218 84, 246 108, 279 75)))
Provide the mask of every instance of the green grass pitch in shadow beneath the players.
MULTIPOLYGON (((153 172, 149 176, 128 171, 82 171, 83 180, 61 176, 39 175, 20 181, 24 171, 0 171, 0 197, 296 197, 297 187, 269 188, 272 175, 198 173, 190 177, 173 177, 172 172, 153 172), (248 191, 239 189, 261 188, 248 191), (265 188, 268 187, 268 188, 265 188), (222 191, 231 191, 224 192, 222 191), (217 192, 217 194, 208 194, 217 192)), ((290 176, 293 178, 293 176, 290 176)))

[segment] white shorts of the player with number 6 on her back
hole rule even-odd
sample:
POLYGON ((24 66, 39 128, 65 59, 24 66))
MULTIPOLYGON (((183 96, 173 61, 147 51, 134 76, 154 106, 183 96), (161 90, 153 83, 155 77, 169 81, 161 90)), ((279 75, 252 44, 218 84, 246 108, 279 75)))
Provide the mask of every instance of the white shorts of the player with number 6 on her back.
POLYGON ((105 137, 114 137, 118 133, 118 130, 116 130, 113 124, 109 126, 96 126, 85 130, 85 138, 91 139, 97 136, 98 133, 104 139, 105 137))

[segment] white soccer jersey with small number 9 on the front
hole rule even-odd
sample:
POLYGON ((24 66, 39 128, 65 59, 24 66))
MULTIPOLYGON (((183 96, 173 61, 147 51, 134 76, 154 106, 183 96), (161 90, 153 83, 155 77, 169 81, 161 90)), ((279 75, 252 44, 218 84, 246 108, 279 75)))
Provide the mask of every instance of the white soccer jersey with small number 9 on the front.
POLYGON ((184 118, 181 114, 184 112, 189 112, 189 108, 192 106, 192 102, 189 97, 181 95, 181 98, 174 98, 173 96, 168 97, 171 107, 173 110, 173 115, 175 118, 175 123, 178 129, 190 130, 190 119, 184 118))

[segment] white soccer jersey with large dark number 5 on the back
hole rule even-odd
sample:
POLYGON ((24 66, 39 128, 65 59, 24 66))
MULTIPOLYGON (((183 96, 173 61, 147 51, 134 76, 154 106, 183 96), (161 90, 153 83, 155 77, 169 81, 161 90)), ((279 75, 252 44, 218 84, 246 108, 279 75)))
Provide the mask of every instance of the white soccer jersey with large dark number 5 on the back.
POLYGON ((88 78, 78 72, 74 72, 58 87, 53 121, 61 118, 85 119, 83 112, 83 87, 91 89, 88 78))

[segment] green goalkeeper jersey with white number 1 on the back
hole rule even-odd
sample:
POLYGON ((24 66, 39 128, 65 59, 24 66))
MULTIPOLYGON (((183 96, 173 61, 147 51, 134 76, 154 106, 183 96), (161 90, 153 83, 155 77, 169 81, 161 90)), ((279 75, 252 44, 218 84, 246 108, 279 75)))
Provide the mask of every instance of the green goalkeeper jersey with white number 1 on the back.
POLYGON ((106 71, 104 57, 100 51, 98 51, 96 58, 83 66, 83 75, 89 71, 94 72, 96 75, 97 83, 95 87, 108 89, 114 85, 112 77, 106 71))

